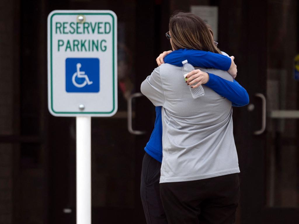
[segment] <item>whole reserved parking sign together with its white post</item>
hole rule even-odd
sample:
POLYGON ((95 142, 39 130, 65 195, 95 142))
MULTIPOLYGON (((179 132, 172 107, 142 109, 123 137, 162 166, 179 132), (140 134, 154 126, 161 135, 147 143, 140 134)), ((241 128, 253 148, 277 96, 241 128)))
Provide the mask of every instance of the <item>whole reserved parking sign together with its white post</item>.
POLYGON ((48 109, 76 116, 77 224, 91 224, 91 116, 117 111, 117 16, 55 10, 48 16, 48 109))

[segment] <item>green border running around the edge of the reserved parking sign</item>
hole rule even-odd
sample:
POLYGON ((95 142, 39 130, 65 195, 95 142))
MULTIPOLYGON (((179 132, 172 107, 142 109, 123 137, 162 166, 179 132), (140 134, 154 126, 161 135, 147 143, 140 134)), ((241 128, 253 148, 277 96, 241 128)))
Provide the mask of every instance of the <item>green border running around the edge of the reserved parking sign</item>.
POLYGON ((71 113, 71 114, 91 114, 91 113, 95 113, 95 114, 111 114, 113 113, 114 109, 115 109, 115 85, 114 85, 114 79, 115 79, 115 56, 114 56, 114 51, 115 51, 115 23, 114 23, 114 16, 111 14, 111 13, 54 13, 52 16, 51 16, 51 22, 50 22, 50 26, 51 26, 51 37, 50 37, 50 48, 51 48, 51 56, 50 56, 50 60, 51 60, 51 109, 54 113, 56 114, 65 114, 65 113, 71 113), (79 15, 79 14, 82 14, 82 15, 110 15, 112 17, 112 26, 113 26, 113 34, 112 34, 112 47, 113 47, 113 52, 112 52, 112 60, 113 60, 113 63, 112 63, 112 71, 113 71, 113 108, 112 108, 112 111, 110 112, 56 112, 53 108, 53 67, 52 67, 52 19, 53 19, 53 16, 55 15, 79 15))

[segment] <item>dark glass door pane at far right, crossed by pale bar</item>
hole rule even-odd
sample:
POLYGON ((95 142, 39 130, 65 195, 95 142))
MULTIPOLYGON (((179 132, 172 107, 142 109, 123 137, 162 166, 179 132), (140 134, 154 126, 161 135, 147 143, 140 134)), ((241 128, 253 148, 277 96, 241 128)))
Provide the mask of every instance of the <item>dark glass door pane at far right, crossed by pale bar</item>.
MULTIPOLYGON (((268 1, 266 206, 299 213, 299 5, 268 1), (273 35, 274 34, 274 35, 273 35)), ((276 212, 275 212, 276 211, 276 212)), ((279 210, 278 210, 279 211, 279 210)), ((284 217, 286 221, 287 217, 284 217)), ((294 220, 290 220, 290 223, 294 220)))

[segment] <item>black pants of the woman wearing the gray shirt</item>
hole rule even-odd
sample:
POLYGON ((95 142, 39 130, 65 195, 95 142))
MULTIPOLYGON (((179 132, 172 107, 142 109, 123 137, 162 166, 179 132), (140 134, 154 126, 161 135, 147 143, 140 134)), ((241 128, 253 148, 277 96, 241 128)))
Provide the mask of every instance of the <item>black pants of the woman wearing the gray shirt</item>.
POLYGON ((160 184, 170 224, 233 224, 239 202, 239 175, 160 184))

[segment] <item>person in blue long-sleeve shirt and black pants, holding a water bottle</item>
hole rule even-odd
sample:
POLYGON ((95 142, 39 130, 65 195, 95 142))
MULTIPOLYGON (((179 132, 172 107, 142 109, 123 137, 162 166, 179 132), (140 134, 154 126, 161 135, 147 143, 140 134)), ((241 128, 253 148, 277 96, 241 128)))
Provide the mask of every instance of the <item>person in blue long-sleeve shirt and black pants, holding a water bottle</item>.
MULTIPOLYGON (((225 53, 223 53, 225 54, 225 53)), ((226 55, 226 54, 225 54, 226 55)), ((194 67, 216 68, 228 71, 234 78, 237 74, 237 66, 234 57, 192 49, 179 49, 162 53, 157 58, 158 65, 169 63, 182 66, 182 61, 194 67), (165 58, 164 58, 165 57, 165 58)), ((207 87, 232 102, 232 106, 247 105, 249 97, 247 91, 237 81, 230 82, 214 74, 204 73, 199 69, 193 70, 187 75, 187 84, 197 85, 205 83, 207 87)), ((141 173, 141 200, 147 223, 167 223, 166 215, 160 199, 159 179, 162 162, 162 118, 161 107, 156 107, 155 126, 144 150, 146 151, 141 173)))

